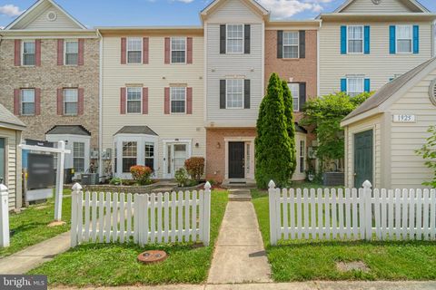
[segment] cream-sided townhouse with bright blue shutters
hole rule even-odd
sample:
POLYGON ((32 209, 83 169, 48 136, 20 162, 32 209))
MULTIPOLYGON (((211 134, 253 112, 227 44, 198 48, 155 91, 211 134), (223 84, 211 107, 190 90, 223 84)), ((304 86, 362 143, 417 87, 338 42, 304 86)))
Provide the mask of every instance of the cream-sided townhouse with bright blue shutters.
POLYGON ((376 91, 433 56, 436 15, 414 0, 349 0, 319 18, 320 95, 376 91))

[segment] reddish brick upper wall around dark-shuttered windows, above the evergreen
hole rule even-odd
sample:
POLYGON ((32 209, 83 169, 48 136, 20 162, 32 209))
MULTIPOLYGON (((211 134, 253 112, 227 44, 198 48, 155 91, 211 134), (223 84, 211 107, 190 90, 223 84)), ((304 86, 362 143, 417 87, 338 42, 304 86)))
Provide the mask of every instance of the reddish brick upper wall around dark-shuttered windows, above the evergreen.
MULTIPOLYGON (((307 99, 317 95, 317 31, 306 30, 306 55, 299 59, 277 58, 277 30, 265 31, 265 90, 272 73, 289 82, 306 82, 307 99)), ((295 114, 301 119, 301 113, 295 114)))

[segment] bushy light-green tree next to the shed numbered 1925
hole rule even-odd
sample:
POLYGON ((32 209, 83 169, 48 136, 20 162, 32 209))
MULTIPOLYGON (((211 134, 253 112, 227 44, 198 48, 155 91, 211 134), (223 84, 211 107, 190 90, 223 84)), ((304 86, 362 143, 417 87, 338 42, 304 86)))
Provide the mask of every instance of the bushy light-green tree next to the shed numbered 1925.
POLYGON ((371 95, 372 93, 363 92, 351 97, 344 92, 338 92, 309 100, 304 105, 304 116, 300 123, 313 128, 317 135, 316 154, 321 161, 322 171, 331 160, 343 160, 345 137, 341 121, 371 95))

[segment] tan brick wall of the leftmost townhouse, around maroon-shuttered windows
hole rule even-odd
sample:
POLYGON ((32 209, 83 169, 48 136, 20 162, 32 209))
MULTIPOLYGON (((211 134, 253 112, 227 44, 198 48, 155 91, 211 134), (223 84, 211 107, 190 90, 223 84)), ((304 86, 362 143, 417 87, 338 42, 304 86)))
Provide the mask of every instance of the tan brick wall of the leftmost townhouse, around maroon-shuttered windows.
POLYGON ((23 139, 45 140, 45 132, 55 125, 82 125, 91 132, 91 147, 98 148, 99 40, 84 40, 84 65, 57 65, 57 39, 41 40, 41 66, 14 64, 13 39, 0 43, 0 103, 14 111, 14 90, 41 89, 41 114, 18 116, 27 125, 23 139), (56 110, 56 89, 84 89, 84 114, 62 116, 56 110))

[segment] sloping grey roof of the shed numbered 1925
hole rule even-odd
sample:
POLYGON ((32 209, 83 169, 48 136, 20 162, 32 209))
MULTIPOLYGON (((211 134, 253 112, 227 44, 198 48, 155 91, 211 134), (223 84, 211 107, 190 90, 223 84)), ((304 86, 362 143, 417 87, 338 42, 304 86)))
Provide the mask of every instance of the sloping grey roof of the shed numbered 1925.
POLYGON ((343 121, 348 121, 354 117, 362 115, 364 112, 371 111, 381 106, 384 102, 394 98, 402 89, 409 90, 417 82, 421 81, 421 74, 428 70, 436 69, 436 58, 431 58, 425 63, 421 63, 411 71, 401 74, 398 78, 386 83, 372 97, 362 103, 356 110, 346 116, 343 121))

